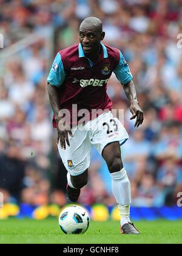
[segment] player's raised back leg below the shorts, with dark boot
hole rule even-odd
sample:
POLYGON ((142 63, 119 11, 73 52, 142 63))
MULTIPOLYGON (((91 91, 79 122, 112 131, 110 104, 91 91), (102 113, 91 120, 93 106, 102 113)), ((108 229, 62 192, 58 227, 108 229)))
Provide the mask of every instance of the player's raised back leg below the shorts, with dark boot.
POLYGON ((72 176, 67 172, 67 196, 72 202, 78 201, 81 188, 87 185, 88 169, 83 174, 72 176))

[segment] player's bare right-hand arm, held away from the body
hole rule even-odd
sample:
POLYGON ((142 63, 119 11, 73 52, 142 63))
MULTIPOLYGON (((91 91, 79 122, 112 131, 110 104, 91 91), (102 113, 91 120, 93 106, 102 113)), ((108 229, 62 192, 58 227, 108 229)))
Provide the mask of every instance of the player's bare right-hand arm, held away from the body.
POLYGON ((129 83, 122 84, 122 85, 123 85, 125 94, 130 101, 130 112, 132 113, 132 117, 130 118, 130 120, 136 118, 135 127, 138 127, 140 126, 140 124, 143 123, 144 116, 143 116, 143 111, 141 110, 138 103, 135 84, 133 83, 133 80, 131 80, 129 83))

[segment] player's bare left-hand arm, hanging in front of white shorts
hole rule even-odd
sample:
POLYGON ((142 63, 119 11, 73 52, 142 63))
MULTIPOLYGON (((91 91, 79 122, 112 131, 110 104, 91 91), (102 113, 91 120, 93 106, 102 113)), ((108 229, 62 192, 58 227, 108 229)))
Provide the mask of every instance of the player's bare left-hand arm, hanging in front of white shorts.
POLYGON ((49 83, 48 83, 47 89, 48 89, 50 104, 52 106, 53 113, 55 115, 55 121, 57 124, 57 130, 58 130, 57 143, 59 143, 59 140, 60 140, 61 148, 66 149, 66 142, 67 142, 67 145, 70 146, 68 132, 69 132, 69 135, 72 137, 73 137, 73 134, 70 128, 67 127, 66 124, 64 123, 65 121, 63 121, 62 116, 59 116, 59 111, 61 110, 61 105, 59 102, 60 90, 59 88, 52 86, 49 83))

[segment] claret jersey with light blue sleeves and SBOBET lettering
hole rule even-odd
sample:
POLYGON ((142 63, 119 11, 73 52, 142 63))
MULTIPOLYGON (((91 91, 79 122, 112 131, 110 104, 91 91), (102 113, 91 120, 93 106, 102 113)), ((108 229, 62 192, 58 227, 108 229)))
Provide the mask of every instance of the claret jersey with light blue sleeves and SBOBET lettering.
MULTIPOLYGON (((129 66, 121 51, 101 43, 101 54, 95 63, 84 54, 81 44, 58 52, 47 82, 61 90, 61 108, 72 113, 72 105, 79 109, 108 109, 112 102, 107 95, 107 81, 112 72, 122 84, 132 80, 129 66)), ((55 126, 55 123, 54 123, 55 126)))

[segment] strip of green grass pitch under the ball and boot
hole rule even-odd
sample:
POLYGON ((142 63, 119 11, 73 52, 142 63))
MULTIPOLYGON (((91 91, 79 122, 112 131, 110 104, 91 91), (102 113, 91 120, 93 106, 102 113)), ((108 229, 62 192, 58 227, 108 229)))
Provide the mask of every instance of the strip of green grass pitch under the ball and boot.
POLYGON ((126 243, 182 243, 182 221, 138 221, 141 235, 121 235, 115 221, 90 222, 83 235, 65 235, 58 219, 8 219, 0 221, 0 244, 126 244, 126 243))

